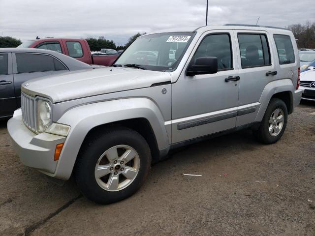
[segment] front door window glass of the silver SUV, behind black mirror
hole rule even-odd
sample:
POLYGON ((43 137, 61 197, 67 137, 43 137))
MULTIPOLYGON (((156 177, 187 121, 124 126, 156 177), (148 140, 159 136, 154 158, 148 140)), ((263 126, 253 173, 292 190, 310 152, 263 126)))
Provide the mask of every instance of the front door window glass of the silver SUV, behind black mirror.
POLYGON ((218 58, 218 71, 233 69, 230 35, 224 33, 206 36, 200 43, 192 60, 205 57, 218 58))

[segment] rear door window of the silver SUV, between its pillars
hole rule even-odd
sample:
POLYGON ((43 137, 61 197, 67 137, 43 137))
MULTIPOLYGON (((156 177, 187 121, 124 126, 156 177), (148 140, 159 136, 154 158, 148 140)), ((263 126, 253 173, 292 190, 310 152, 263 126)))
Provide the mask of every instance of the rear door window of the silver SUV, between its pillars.
POLYGON ((241 52, 242 68, 270 65, 270 51, 265 34, 237 35, 241 52))

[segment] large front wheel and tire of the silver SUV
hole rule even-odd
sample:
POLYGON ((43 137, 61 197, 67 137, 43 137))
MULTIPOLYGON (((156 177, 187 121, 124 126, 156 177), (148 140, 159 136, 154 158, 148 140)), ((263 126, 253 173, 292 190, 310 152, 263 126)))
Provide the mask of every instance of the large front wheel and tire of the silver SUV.
POLYGON ((118 202, 140 188, 151 160, 149 145, 139 133, 125 127, 109 128, 85 140, 75 166, 76 182, 95 203, 118 202))

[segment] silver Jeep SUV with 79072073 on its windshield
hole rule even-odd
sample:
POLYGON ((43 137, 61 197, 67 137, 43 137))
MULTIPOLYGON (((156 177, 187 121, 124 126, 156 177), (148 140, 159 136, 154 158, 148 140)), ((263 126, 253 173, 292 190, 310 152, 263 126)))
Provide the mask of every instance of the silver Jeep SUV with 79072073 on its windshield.
POLYGON ((25 165, 62 180, 74 173, 86 197, 108 204, 135 193, 171 149, 243 128, 277 142, 300 103, 299 67, 287 29, 162 30, 112 67, 24 83, 7 127, 25 165))

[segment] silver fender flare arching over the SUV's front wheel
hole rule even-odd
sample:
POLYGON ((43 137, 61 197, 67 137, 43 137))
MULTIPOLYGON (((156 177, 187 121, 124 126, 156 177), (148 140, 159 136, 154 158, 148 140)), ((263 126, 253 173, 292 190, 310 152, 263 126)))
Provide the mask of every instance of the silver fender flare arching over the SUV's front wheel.
POLYGON ((127 98, 97 102, 67 111, 59 123, 71 126, 53 177, 68 179, 79 149, 88 132, 95 126, 131 118, 146 118, 153 129, 158 149, 168 148, 164 118, 158 106, 148 98, 127 98))

